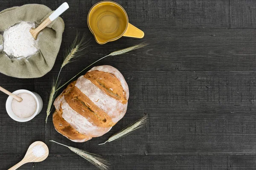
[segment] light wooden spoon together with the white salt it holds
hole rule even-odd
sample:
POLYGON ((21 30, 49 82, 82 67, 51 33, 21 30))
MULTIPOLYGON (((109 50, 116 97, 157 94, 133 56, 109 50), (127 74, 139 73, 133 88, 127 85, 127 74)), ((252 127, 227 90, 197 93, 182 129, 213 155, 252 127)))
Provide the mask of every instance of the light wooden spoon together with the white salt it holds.
POLYGON ((49 150, 47 145, 44 142, 36 141, 30 144, 29 149, 27 150, 24 158, 19 163, 11 167, 9 170, 16 170, 18 167, 28 162, 44 161, 44 159, 46 159, 48 155, 49 150))

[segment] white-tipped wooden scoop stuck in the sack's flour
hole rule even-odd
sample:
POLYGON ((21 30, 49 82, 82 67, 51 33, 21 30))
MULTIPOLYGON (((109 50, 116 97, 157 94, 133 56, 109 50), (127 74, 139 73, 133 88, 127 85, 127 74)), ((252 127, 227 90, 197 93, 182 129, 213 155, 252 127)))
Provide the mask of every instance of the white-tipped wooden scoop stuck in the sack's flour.
POLYGON ((67 3, 62 3, 61 6, 59 6, 49 17, 47 17, 47 19, 45 19, 37 28, 31 28, 29 32, 32 34, 35 40, 37 39, 38 34, 40 31, 42 31, 42 29, 48 26, 53 20, 55 20, 68 8, 69 6, 67 3))

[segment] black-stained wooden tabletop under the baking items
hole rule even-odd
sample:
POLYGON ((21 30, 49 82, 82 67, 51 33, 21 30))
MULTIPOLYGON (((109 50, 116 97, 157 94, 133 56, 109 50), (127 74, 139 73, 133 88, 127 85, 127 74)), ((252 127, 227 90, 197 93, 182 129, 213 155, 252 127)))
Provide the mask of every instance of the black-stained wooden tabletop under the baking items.
MULTIPOLYGON (((2 0, 0 10, 27 3, 55 9, 63 2, 2 0)), ((116 0, 145 37, 122 37, 105 45, 97 44, 87 27, 87 13, 99 1, 67 2, 70 8, 61 16, 65 22, 63 41, 52 71, 37 79, 0 74, 4 88, 35 91, 44 101, 35 119, 20 123, 7 115, 7 96, 0 94, 1 169, 20 161, 27 147, 38 140, 48 145, 49 157, 20 169, 96 169, 69 149, 48 142, 51 139, 100 154, 111 161, 113 170, 256 169, 256 1, 116 0), (149 43, 147 48, 96 64, 121 71, 130 99, 125 117, 109 133, 84 143, 71 142, 56 132, 52 116, 44 123, 52 77, 58 73, 64 49, 76 31, 88 32, 91 46, 63 69, 62 82, 112 51, 149 43), (145 128, 98 146, 143 113, 150 119, 145 128)))

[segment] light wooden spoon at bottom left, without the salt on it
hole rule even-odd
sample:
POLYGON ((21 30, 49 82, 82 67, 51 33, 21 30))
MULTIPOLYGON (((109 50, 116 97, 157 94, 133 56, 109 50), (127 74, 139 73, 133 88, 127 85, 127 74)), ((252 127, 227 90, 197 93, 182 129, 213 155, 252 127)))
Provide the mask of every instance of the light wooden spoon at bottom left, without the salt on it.
POLYGON ((18 167, 20 167, 21 165, 26 164, 28 162, 44 161, 44 159, 46 159, 48 155, 49 155, 49 150, 48 150, 47 145, 44 142, 36 141, 36 142, 30 144, 29 149, 27 150, 24 158, 19 163, 15 164, 13 167, 11 167, 9 170, 16 170, 18 167), (43 147, 45 150, 44 155, 40 156, 40 157, 35 156, 34 150, 33 150, 33 148, 38 145, 43 147))

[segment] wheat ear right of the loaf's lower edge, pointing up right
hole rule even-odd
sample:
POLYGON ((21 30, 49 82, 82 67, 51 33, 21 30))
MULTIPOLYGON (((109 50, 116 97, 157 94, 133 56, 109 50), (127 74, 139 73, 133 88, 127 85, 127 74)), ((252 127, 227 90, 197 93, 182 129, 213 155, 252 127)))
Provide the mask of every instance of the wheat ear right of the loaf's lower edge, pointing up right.
POLYGON ((136 122, 131 123, 127 127, 125 127, 122 130, 120 130, 119 132, 113 134, 110 138, 108 138, 108 140, 106 142, 104 142, 102 144, 105 144, 107 142, 112 142, 114 140, 119 140, 122 137, 125 137, 126 135, 130 134, 134 130, 137 130, 137 129, 141 128, 141 127, 144 127, 146 125, 146 123, 147 123, 147 119, 148 119, 148 115, 146 114, 145 116, 143 116, 142 118, 140 118, 136 122))

